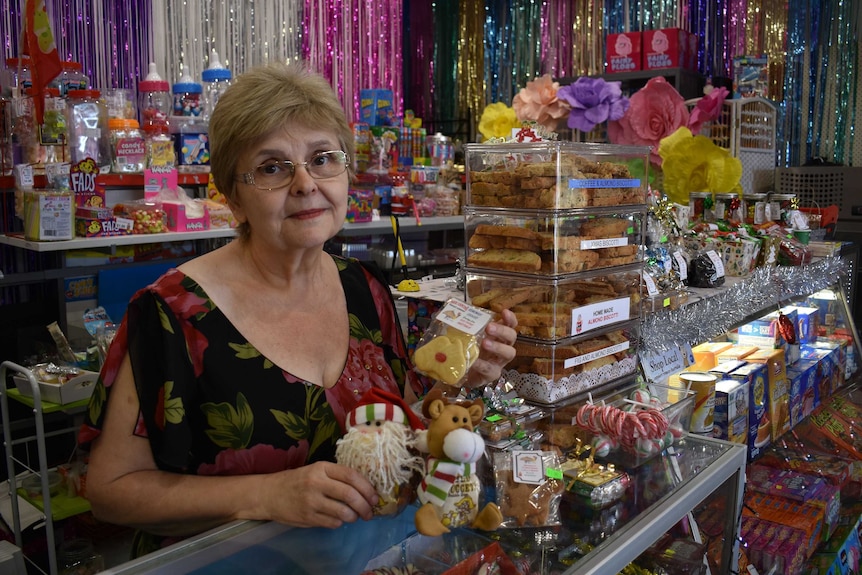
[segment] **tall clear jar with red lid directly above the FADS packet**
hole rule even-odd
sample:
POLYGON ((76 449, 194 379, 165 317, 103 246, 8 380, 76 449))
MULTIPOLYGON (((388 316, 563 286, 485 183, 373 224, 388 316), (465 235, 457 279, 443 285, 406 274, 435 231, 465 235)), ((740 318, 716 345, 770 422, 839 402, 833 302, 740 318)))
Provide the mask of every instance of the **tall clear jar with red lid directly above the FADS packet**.
POLYGON ((103 174, 111 171, 108 108, 98 90, 71 90, 66 96, 69 161, 91 158, 103 174))

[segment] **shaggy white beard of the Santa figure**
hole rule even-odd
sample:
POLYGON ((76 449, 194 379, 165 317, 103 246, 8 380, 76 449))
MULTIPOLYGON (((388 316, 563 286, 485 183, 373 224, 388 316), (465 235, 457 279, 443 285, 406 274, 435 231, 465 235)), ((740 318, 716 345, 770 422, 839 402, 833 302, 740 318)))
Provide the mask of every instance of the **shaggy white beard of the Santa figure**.
POLYGON ((338 440, 335 460, 362 473, 381 495, 389 495, 425 471, 425 460, 414 455, 412 431, 400 423, 386 423, 374 431, 350 428, 338 440))

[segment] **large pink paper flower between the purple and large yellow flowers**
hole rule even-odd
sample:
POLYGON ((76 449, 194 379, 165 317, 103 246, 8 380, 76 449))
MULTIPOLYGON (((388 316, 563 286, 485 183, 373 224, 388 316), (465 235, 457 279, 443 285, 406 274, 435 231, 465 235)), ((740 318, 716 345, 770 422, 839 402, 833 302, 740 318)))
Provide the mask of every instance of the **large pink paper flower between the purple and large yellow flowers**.
POLYGON ((661 77, 629 98, 629 109, 617 121, 608 122, 608 139, 614 144, 651 146, 650 161, 662 164, 659 142, 688 124, 688 108, 679 92, 661 77))

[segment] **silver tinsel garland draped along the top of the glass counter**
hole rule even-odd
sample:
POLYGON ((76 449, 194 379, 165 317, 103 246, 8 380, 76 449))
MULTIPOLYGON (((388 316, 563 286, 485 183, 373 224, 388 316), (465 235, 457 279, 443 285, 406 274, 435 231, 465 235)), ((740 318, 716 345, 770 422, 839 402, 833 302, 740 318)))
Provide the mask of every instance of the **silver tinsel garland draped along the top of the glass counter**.
POLYGON ((658 353, 683 344, 694 346, 709 341, 751 314, 777 310, 794 298, 834 286, 849 271, 850 263, 838 257, 804 266, 757 268, 738 283, 716 288, 714 295, 647 316, 642 351, 658 353))

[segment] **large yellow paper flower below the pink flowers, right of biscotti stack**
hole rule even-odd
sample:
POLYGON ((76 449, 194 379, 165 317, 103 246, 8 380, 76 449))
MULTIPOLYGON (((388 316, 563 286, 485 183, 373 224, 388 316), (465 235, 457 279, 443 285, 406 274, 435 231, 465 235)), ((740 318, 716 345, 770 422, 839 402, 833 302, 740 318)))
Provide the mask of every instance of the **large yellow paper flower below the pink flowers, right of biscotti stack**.
POLYGON ((742 162, 706 136, 692 136, 679 128, 661 140, 664 193, 671 201, 687 204, 690 192, 733 191, 742 178, 742 162))

